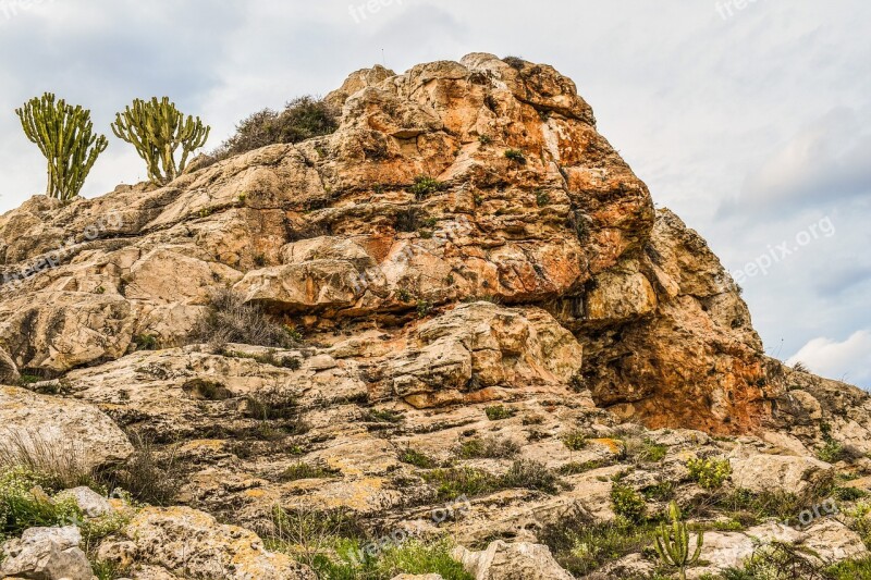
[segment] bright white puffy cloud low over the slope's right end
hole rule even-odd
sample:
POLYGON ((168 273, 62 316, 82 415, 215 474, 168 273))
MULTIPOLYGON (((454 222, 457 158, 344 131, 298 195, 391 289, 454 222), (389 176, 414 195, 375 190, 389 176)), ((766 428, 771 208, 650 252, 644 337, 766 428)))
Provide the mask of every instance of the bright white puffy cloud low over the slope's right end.
POLYGON ((789 357, 787 363, 798 361, 817 374, 871 387, 871 332, 855 332, 841 343, 824 337, 813 338, 789 357))

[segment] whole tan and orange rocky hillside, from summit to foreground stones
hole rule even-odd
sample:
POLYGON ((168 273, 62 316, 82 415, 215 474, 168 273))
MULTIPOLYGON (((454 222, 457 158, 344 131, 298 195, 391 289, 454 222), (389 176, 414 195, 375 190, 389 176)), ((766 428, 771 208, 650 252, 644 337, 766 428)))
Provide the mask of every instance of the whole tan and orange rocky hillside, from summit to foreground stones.
MULTIPOLYGON (((266 536, 274 506, 341 508, 376 536, 506 541, 455 554, 479 579, 563 578, 536 544, 591 571, 552 530, 614 520, 616 485, 650 514, 695 505, 710 490, 692 457, 725 457, 727 489, 806 502, 836 472, 864 474, 869 398, 763 354, 737 286, 654 210, 571 79, 476 53, 359 71, 328 100, 342 108, 332 135, 0 217, 3 427, 75 441, 95 465, 123 461, 136 435, 183 480, 187 507, 148 508, 107 540, 137 578, 311 575, 237 546, 218 550, 224 571, 185 572, 160 546, 237 533, 192 508, 266 536), (299 336, 192 337, 233 300, 299 336), (833 448, 837 469, 813 458, 833 448), (457 510, 444 479, 461 468, 490 480, 457 510), (552 576, 513 571, 530 562, 552 576)), ((708 507, 699 521, 724 517, 708 507)), ((709 532, 694 573, 739 565, 760 535, 826 563, 867 555, 846 518, 817 519, 709 532)), ((594 573, 652 573, 640 553, 634 571, 594 573)))

